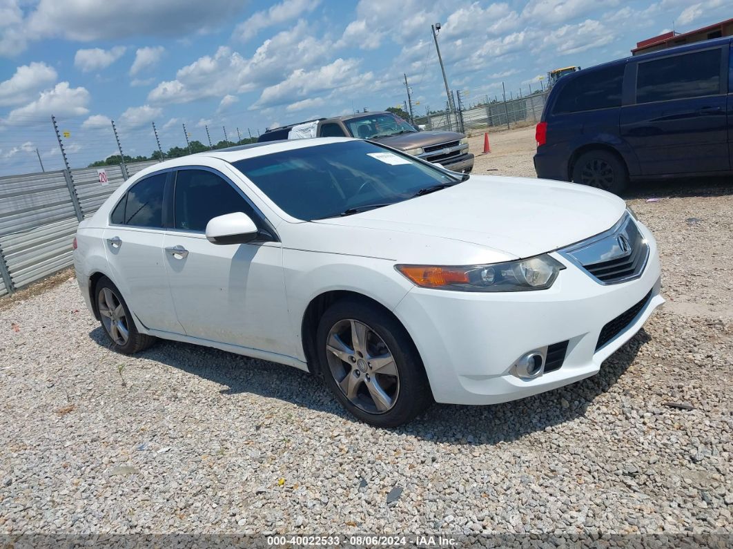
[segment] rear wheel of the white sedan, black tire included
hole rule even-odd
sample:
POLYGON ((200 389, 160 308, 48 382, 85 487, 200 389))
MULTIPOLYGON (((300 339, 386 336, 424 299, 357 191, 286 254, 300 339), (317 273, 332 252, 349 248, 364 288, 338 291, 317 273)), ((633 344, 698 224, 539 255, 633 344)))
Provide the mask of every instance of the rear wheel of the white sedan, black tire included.
POLYGON ((155 343, 155 337, 139 333, 122 293, 106 276, 97 281, 94 295, 100 323, 111 349, 133 355, 155 343))

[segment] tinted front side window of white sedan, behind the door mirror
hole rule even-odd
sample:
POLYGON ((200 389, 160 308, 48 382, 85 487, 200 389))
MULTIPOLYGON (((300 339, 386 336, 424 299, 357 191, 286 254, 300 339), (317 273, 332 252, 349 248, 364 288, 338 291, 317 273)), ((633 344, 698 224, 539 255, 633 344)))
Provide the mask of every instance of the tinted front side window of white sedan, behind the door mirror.
POLYGON ((178 172, 174 195, 176 229, 204 232, 212 218, 234 212, 246 213, 257 223, 246 200, 217 174, 202 169, 178 172))

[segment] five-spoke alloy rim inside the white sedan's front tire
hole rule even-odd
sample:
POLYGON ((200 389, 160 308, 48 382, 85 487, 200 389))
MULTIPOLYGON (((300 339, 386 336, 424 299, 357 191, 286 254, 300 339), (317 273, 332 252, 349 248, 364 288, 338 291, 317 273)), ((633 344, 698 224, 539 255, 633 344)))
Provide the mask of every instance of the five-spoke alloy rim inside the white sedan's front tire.
POLYGON ((358 320, 339 320, 328 333, 331 375, 349 401, 367 413, 385 413, 399 396, 399 371, 384 340, 358 320))

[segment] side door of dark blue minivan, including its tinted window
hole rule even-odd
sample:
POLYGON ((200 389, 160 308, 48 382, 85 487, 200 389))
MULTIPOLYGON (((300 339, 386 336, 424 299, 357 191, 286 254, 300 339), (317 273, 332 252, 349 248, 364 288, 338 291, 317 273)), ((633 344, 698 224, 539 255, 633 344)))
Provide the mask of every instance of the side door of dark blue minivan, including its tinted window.
POLYGON ((630 62, 636 101, 622 107, 621 134, 636 152, 641 175, 730 168, 726 60, 727 51, 716 46, 630 62))

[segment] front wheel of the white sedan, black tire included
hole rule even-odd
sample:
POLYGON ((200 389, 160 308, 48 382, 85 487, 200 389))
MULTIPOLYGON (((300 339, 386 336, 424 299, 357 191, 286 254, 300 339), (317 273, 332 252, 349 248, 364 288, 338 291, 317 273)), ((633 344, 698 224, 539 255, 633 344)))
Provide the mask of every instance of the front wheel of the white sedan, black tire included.
POLYGON ((415 345, 397 319, 378 306, 338 301, 323 314, 316 337, 325 383, 358 419, 397 427, 431 404, 415 345))

